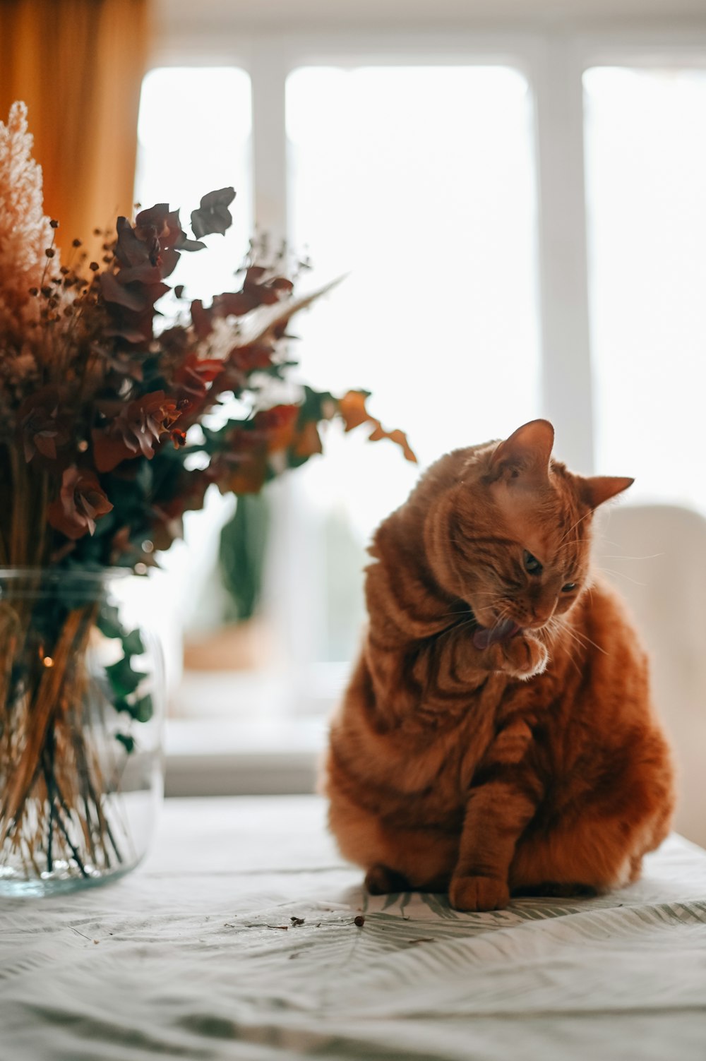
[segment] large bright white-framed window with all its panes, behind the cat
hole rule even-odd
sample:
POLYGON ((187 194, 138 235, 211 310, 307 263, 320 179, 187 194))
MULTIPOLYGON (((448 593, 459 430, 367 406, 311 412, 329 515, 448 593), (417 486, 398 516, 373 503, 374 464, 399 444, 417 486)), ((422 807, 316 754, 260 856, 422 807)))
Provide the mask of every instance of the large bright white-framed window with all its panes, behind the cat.
MULTIPOLYGON (((528 19, 540 6, 532 0, 528 19)), ((372 410, 409 432, 423 467, 545 415, 570 467, 634 474, 636 498, 706 511, 706 23, 666 34, 631 16, 590 32, 592 5, 572 0, 561 28, 518 33, 498 15, 480 30, 473 0, 465 28, 444 30, 442 3, 431 29, 426 8, 425 28, 411 12, 403 35, 376 29, 374 14, 354 33, 312 0, 306 30, 280 33, 247 3, 234 27, 227 7, 218 32, 201 20, 161 38, 141 137, 155 166, 171 145, 171 173, 174 128, 196 122, 204 153, 179 167, 189 187, 168 192, 170 174, 143 155, 140 198, 154 187, 191 209, 234 184, 236 243, 257 221, 308 250, 312 285, 348 274, 297 319, 303 375, 369 387, 372 410), (222 169, 206 158, 216 144, 233 149, 222 169)), ((224 276, 240 253, 224 251, 224 276)), ((200 725, 174 745, 185 770, 194 733, 204 752, 220 745, 221 780, 211 758, 202 790, 236 789, 233 752, 245 747, 244 787, 275 788, 282 763, 310 784, 363 615, 365 543, 417 474, 389 443, 334 430, 326 442, 324 460, 270 490, 263 662, 180 686, 180 712, 218 716, 210 736, 200 725), (280 758, 268 759, 275 746, 280 758)), ((212 564, 229 510, 209 505, 187 528, 197 547, 168 557, 171 572, 212 564)))

